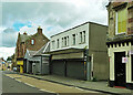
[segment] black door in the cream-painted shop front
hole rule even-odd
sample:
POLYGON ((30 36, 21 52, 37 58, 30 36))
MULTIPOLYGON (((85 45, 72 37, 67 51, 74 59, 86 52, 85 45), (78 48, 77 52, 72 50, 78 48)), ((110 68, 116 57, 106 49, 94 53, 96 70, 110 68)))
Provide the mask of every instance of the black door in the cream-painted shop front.
POLYGON ((115 86, 125 86, 125 64, 122 63, 122 57, 125 52, 114 53, 114 72, 115 72, 115 86))

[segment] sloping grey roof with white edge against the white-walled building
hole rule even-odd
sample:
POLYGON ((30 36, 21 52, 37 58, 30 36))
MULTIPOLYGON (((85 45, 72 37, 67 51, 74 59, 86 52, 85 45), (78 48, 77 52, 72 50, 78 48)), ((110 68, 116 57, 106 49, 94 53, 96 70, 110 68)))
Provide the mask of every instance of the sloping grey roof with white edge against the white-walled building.
POLYGON ((41 55, 42 53, 50 51, 50 42, 44 44, 39 51, 37 51, 33 55, 41 55))

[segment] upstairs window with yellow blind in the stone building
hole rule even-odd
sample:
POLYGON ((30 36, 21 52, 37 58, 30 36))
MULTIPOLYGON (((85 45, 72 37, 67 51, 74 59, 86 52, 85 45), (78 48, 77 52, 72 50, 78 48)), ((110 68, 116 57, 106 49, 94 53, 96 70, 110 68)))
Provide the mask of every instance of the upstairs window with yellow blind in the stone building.
POLYGON ((126 32, 127 11, 126 8, 116 12, 116 34, 126 32))

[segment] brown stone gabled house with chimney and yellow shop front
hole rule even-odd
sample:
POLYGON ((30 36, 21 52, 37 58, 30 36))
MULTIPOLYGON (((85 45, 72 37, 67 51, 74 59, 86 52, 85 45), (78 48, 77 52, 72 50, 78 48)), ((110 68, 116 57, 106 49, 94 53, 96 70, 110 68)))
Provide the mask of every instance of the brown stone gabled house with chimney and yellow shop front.
POLYGON ((27 71, 27 64, 24 61, 24 54, 27 50, 38 51, 45 43, 48 43, 48 41, 49 39, 42 33, 42 29, 40 27, 38 28, 38 32, 33 35, 28 35, 25 32, 23 34, 20 33, 18 34, 16 57, 17 57, 18 71, 20 73, 27 71))

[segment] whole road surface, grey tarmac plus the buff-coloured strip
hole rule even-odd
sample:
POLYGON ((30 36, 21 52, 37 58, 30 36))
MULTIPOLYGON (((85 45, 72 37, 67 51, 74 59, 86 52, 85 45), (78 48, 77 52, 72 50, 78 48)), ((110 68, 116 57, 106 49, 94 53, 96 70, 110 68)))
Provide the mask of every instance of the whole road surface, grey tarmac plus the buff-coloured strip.
MULTIPOLYGON (((37 80, 33 77, 3 72, 3 93, 38 93, 43 95, 105 95, 98 92, 85 91, 73 86, 65 86, 57 83, 37 80)), ((37 94, 37 95, 38 95, 37 94)), ((27 94, 25 94, 27 95, 27 94)))

